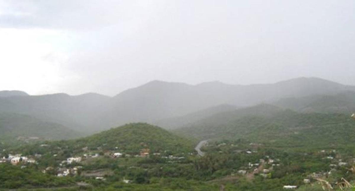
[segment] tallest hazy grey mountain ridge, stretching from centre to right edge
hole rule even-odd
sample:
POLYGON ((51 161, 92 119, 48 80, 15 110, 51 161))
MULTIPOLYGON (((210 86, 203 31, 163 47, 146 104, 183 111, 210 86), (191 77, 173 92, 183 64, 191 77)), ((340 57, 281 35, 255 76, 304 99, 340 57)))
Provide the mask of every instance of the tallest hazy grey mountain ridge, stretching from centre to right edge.
POLYGON ((115 97, 103 114, 108 126, 125 122, 155 122, 216 105, 239 107, 273 102, 285 97, 333 95, 355 91, 346 86, 320 78, 296 78, 275 84, 229 85, 209 82, 198 85, 153 81, 126 90, 115 97))

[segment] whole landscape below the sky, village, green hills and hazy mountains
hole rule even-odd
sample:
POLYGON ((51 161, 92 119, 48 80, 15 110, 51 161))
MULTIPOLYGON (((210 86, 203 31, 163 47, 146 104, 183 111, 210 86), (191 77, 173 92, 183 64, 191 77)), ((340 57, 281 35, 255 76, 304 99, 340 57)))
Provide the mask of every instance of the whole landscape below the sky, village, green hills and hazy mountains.
POLYGON ((120 98, 6 92, 0 190, 351 190, 352 88, 301 78, 151 82, 120 98), (262 87, 284 93, 250 97, 262 87))

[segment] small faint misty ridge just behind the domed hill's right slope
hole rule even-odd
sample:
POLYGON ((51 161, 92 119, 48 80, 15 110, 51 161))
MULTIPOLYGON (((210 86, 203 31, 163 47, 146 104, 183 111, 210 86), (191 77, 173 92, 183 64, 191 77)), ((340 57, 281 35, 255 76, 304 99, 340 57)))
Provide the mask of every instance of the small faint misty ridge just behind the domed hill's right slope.
POLYGON ((159 121, 156 121, 153 123, 160 126, 160 127, 164 127, 167 129, 175 129, 175 128, 179 128, 179 127, 183 127, 183 126, 192 124, 194 122, 197 122, 200 119, 204 119, 209 116, 213 116, 214 114, 217 114, 217 113, 235 111, 236 109, 237 109, 236 106, 224 104, 224 105, 209 107, 207 109, 203 109, 203 110, 200 110, 197 112, 189 113, 187 115, 180 116, 180 117, 162 119, 162 120, 159 120, 159 121))

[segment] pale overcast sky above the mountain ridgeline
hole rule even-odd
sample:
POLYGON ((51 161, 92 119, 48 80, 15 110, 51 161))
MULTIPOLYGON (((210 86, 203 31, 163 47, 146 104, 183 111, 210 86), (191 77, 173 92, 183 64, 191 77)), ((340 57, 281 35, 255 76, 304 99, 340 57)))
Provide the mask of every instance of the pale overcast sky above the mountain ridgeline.
POLYGON ((355 85, 353 0, 0 0, 0 90, 116 95, 151 80, 355 85))

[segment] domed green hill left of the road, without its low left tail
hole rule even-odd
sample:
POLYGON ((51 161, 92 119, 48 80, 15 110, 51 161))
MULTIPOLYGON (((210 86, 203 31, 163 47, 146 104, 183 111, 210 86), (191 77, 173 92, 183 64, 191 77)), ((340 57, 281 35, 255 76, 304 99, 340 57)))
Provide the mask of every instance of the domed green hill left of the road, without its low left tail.
POLYGON ((160 127, 147 123, 130 123, 101 133, 73 141, 79 147, 102 147, 139 152, 149 148, 152 152, 183 152, 193 148, 192 142, 183 139, 160 127))

